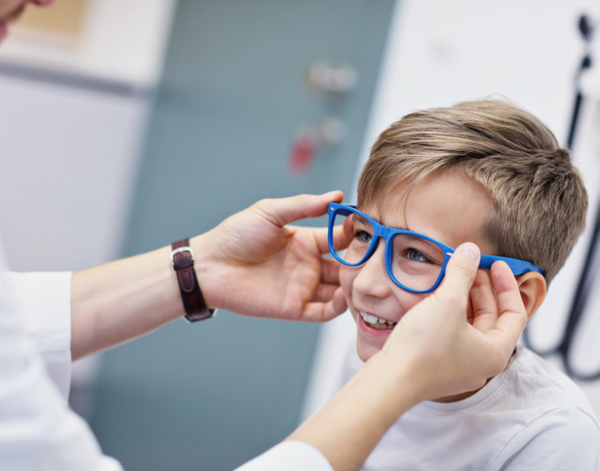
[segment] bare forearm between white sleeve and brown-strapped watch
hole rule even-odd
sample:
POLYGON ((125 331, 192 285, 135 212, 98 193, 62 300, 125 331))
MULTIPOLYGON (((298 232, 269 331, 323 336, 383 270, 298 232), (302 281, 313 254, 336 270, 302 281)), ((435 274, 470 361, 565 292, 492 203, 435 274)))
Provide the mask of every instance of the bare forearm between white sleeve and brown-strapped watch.
MULTIPOLYGON (((198 245, 198 238, 190 242, 198 245)), ((184 315, 171 248, 73 274, 73 360, 147 334, 184 315)), ((201 254, 196 254, 196 264, 201 254)))

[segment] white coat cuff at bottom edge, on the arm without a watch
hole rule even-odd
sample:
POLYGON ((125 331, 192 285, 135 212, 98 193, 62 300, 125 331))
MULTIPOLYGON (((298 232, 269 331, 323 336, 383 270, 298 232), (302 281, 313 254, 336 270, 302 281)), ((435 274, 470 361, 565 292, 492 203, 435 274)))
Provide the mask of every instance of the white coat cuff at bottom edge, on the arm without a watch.
POLYGON ((235 471, 333 471, 319 450, 304 442, 282 442, 235 471))

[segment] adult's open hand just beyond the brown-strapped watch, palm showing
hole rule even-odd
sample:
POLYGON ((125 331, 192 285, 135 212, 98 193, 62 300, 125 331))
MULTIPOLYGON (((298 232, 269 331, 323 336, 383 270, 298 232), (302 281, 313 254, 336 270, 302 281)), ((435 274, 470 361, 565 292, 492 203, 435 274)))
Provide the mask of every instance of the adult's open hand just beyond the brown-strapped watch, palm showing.
MULTIPOLYGON (((340 191, 266 199, 192 240, 207 306, 254 317, 325 322, 346 310, 327 229, 289 223, 326 214, 340 191), (200 260, 198 260, 200 258, 200 260)), ((343 229, 336 237, 346 238, 343 229)))

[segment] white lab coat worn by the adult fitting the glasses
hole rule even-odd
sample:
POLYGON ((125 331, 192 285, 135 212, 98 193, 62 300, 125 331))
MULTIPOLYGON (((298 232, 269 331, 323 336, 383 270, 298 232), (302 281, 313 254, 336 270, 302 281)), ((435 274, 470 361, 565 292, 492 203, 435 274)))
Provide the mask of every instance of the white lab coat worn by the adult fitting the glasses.
MULTIPOLYGON (((67 405, 71 274, 6 272, 1 249, 0 273, 0 469, 122 470, 67 405)), ((307 469, 333 471, 315 448, 285 442, 238 471, 307 469)))

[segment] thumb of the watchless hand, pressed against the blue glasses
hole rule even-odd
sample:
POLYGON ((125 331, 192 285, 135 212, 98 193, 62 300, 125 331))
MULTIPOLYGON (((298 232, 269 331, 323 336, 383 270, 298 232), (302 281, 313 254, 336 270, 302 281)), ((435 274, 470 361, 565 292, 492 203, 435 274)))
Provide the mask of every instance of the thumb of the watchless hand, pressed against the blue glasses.
POLYGON ((481 252, 479 247, 472 242, 460 245, 450 257, 446 266, 446 275, 440 288, 436 291, 443 295, 458 295, 468 299, 468 294, 473 286, 481 252))

